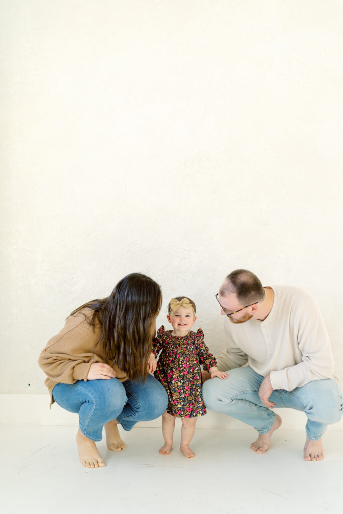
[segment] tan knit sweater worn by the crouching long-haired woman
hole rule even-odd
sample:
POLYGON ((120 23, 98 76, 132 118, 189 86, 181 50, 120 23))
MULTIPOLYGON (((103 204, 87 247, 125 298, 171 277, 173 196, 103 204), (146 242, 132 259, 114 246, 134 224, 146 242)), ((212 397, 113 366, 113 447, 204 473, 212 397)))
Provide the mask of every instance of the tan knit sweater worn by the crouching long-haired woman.
MULTIPOLYGON (((101 337, 101 324, 97 322, 93 326, 87 321, 92 315, 93 310, 86 308, 69 316, 62 330, 48 341, 41 352, 38 364, 48 377, 44 383, 50 393, 50 406, 55 401, 51 392, 56 384, 74 384, 78 380, 86 382, 91 365, 106 362, 101 345, 96 346, 101 337)), ((127 375, 115 364, 113 369, 120 382, 127 380, 127 375)))

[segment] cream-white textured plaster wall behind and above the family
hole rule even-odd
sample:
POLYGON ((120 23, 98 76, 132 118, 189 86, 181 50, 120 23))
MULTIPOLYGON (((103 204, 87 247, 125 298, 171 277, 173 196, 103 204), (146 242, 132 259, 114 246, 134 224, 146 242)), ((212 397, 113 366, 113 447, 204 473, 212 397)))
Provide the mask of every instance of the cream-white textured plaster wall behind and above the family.
POLYGON ((343 4, 0 8, 0 392, 44 393, 41 348, 131 271, 163 311, 191 296, 217 354, 231 269, 308 289, 343 377, 343 4))

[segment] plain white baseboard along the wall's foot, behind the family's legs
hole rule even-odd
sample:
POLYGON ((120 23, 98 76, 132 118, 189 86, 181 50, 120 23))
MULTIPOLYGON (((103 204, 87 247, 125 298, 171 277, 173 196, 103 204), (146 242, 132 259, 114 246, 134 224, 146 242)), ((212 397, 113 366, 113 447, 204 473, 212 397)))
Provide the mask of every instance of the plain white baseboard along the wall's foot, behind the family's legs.
MULTIPOLYGON (((0 412, 2 412, 2 424, 14 425, 64 425, 78 426, 78 415, 62 409, 57 403, 53 403, 49 409, 50 397, 47 394, 0 394, 0 412)), ((282 417, 282 428, 304 429, 306 415, 293 409, 275 409, 282 417)), ((180 424, 180 420, 176 420, 180 424)), ((140 421, 136 427, 159 428, 161 418, 152 421, 140 421)), ((198 428, 227 428, 250 429, 248 425, 241 423, 225 414, 208 411, 206 416, 201 416, 197 422, 198 428)), ((329 430, 343 430, 343 420, 335 425, 330 425, 329 430)))

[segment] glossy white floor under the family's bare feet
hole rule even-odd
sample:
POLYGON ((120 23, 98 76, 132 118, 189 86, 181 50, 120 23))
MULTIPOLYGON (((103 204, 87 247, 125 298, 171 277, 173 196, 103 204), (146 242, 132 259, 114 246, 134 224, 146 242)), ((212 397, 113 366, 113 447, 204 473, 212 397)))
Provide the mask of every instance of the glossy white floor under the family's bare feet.
POLYGON ((278 514, 341 513, 342 431, 325 436, 326 458, 304 462, 305 434, 278 430, 264 455, 249 450, 253 430, 198 429, 185 458, 174 449, 159 455, 157 428, 121 431, 127 449, 99 449, 102 469, 83 468, 76 427, 2 425, 2 512, 168 514, 220 512, 278 514))

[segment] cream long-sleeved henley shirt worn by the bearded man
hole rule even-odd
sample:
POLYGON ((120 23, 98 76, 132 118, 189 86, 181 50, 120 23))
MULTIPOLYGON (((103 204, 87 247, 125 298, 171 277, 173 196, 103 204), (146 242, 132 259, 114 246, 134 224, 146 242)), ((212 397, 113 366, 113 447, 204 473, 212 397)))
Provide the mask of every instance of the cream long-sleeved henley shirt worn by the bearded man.
POLYGON ((336 378, 331 343, 319 308, 309 293, 291 286, 272 286, 274 303, 265 320, 234 324, 226 317, 226 350, 218 369, 248 363, 267 376, 273 389, 293 391, 313 380, 336 378))

